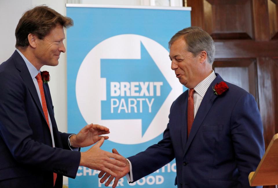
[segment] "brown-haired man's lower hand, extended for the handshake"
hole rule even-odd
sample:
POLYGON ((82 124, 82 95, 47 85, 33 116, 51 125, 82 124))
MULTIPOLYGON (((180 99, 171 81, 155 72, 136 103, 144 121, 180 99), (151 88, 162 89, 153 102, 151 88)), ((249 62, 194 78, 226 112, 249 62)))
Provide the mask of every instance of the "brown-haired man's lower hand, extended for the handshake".
POLYGON ((118 173, 123 171, 122 167, 126 167, 126 164, 124 163, 126 159, 120 155, 105 152, 100 149, 103 142, 104 138, 101 138, 98 143, 96 143, 89 150, 81 152, 80 166, 104 171, 113 176, 118 176, 115 172, 118 173))

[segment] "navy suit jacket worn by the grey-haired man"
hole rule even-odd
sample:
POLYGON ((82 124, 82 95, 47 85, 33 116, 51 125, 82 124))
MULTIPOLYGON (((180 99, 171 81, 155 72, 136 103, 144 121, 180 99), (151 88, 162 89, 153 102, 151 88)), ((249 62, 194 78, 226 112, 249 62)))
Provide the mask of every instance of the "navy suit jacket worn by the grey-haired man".
POLYGON ((128 159, 136 181, 176 159, 178 188, 246 188, 265 150, 261 116, 254 97, 236 85, 215 95, 216 74, 187 138, 188 90, 172 104, 163 139, 128 159))

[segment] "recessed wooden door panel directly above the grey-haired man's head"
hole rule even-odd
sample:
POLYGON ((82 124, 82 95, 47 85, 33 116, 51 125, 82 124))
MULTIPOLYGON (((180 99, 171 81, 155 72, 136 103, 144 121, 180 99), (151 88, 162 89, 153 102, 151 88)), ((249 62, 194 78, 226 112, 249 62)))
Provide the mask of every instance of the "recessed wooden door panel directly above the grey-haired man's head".
POLYGON ((204 0, 204 29, 213 39, 253 38, 251 0, 204 0))

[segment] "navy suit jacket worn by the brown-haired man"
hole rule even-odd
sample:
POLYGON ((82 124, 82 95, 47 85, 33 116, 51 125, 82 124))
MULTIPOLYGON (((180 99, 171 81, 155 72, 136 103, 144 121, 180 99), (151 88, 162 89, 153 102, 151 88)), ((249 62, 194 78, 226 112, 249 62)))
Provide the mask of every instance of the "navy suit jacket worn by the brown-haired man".
POLYGON ((76 176, 80 152, 70 150, 70 134, 58 132, 48 84, 43 89, 55 148, 24 60, 15 51, 0 65, 0 185, 26 177, 24 182, 32 181, 34 187, 53 187, 56 172, 55 187, 62 187, 62 175, 76 176))

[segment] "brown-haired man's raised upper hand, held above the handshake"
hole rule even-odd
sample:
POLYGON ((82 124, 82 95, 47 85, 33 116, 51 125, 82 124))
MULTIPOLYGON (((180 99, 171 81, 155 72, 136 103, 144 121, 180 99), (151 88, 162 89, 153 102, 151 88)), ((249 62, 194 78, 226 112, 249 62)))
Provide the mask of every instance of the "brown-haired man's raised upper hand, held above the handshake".
POLYGON ((90 124, 86 125, 77 135, 72 135, 69 140, 72 144, 72 147, 87 147, 93 145, 101 138, 105 140, 108 139, 108 136, 100 136, 103 134, 109 134, 109 129, 107 127, 90 124))

